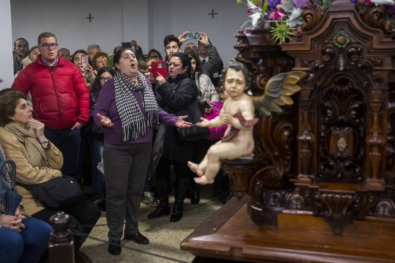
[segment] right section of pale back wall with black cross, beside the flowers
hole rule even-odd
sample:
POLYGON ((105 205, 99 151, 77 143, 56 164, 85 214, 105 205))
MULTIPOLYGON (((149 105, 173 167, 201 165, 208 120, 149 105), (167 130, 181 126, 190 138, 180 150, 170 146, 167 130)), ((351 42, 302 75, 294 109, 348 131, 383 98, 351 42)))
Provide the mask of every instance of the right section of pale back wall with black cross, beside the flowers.
MULTIPOLYGON (((233 36, 248 17, 247 9, 236 0, 167 0, 157 1, 164 7, 155 6, 155 16, 163 10, 160 20, 155 24, 155 48, 164 52, 163 39, 166 35, 180 35, 184 31, 205 32, 211 43, 217 48, 222 61, 228 63, 237 55, 233 48, 236 38, 233 36), (214 9, 212 19, 211 9, 214 9), (163 22, 161 20, 167 21, 163 22)), ((185 46, 197 40, 189 40, 182 44, 182 52, 185 46)))

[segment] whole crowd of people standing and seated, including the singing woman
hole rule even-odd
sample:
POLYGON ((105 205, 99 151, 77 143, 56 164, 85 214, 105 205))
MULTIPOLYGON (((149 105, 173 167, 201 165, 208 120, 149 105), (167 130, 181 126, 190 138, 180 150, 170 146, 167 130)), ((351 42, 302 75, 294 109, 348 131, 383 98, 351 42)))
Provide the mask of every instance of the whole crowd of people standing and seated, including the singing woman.
MULTIPOLYGON (((30 49, 26 39, 15 41, 15 80, 11 88, 0 91, 0 161, 12 159, 17 164, 17 192, 23 200, 14 216, 0 211, 1 262, 45 262, 51 231, 47 222, 57 210, 34 196, 32 187, 59 177, 70 177, 79 185, 89 185, 91 179, 98 200, 92 203, 81 195, 61 210, 72 218, 70 229, 86 235, 105 213, 112 255, 121 253, 122 235, 149 244, 137 224, 141 202, 156 207, 148 218, 170 215, 169 192, 175 187, 170 222, 181 220, 186 196, 192 204, 199 203, 197 175, 187 162, 200 162, 224 135, 226 125, 210 128, 207 138, 186 142, 177 129, 192 123, 180 112, 195 100, 206 101, 204 115, 213 119, 227 94, 218 83, 223 63, 207 34, 199 32, 196 44, 188 43, 182 53, 186 35, 164 38, 167 78, 149 72, 151 62, 163 61, 161 52, 151 49, 145 55, 134 40, 130 47, 114 48, 113 65, 107 65, 109 54, 99 45, 71 54, 58 48, 50 32, 41 33, 38 45, 30 49), (86 56, 88 67, 83 64, 86 56), (152 162, 156 145, 162 155, 152 162), (103 170, 98 168, 101 164, 103 170), (149 170, 154 170, 156 190, 149 170), (28 238, 33 233, 36 242, 28 238)), ((1 172, 8 178, 6 170, 1 172)), ((214 181, 214 196, 229 191, 227 178, 214 181)), ((88 258, 79 250, 85 238, 74 236, 76 261, 88 258)))

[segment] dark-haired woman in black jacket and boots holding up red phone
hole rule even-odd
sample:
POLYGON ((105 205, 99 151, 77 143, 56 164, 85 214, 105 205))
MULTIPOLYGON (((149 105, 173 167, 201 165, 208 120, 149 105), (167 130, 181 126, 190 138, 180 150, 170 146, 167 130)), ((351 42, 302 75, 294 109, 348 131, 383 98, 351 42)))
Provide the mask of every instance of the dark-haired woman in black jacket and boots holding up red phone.
MULTIPOLYGON (((195 100, 195 86, 190 78, 192 71, 191 61, 184 53, 174 53, 169 61, 169 77, 160 74, 154 79, 152 73, 150 82, 156 81, 155 97, 160 107, 167 112, 177 114, 180 110, 188 108, 195 100)), ((167 183, 170 181, 170 165, 173 164, 176 176, 176 190, 174 196, 173 214, 170 222, 177 222, 182 218, 182 205, 184 204, 188 177, 192 172, 187 162, 193 160, 194 142, 182 142, 178 139, 177 129, 166 127, 163 154, 156 168, 156 187, 158 188, 159 206, 148 215, 155 218, 170 214, 169 193, 167 183)), ((193 174, 193 173, 192 173, 193 174)))

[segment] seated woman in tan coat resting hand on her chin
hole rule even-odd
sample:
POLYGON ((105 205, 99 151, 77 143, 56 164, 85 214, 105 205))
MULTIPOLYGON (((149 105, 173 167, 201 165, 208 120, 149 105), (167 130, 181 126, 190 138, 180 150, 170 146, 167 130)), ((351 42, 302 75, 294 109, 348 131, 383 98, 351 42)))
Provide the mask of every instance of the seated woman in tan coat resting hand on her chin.
MULTIPOLYGON (((36 185, 62 176, 62 153, 45 138, 44 124, 33 118, 33 109, 27 105, 26 95, 15 90, 0 95, 0 126, 0 144, 4 154, 17 164, 17 183, 36 185)), ((39 200, 34 200, 30 190, 17 186, 17 191, 23 196, 24 213, 48 222, 57 212, 43 207, 39 200)), ((71 231, 83 231, 87 235, 92 227, 81 228, 79 225, 94 225, 100 217, 98 206, 83 198, 63 210, 73 217, 71 231)), ((86 237, 74 237, 76 252, 85 239, 86 237)), ((81 253, 78 252, 76 256, 80 257, 81 253)))

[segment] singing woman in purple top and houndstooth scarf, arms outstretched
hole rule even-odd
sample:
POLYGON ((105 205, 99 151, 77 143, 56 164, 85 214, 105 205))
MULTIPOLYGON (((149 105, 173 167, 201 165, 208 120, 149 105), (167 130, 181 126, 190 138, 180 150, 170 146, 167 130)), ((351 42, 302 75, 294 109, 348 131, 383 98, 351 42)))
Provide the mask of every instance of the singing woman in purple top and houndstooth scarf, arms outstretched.
POLYGON ((100 91, 93 117, 104 129, 103 166, 106 186, 108 251, 121 253, 120 238, 149 244, 139 233, 137 218, 152 149, 153 129, 159 122, 189 127, 187 116, 168 114, 156 103, 151 84, 137 71, 137 59, 126 48, 114 55, 117 70, 100 91))

